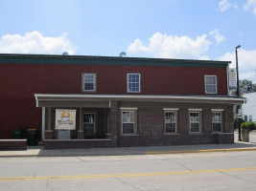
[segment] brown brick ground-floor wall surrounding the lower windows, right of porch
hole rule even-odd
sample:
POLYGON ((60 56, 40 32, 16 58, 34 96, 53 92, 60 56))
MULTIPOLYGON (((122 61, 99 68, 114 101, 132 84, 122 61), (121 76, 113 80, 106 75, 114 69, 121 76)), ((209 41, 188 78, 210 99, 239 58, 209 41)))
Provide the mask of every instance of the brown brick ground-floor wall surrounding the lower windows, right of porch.
MULTIPOLYGON (((225 123, 230 123, 230 107, 225 123)), ((164 134, 164 111, 159 108, 138 108, 138 135, 120 136, 118 146, 160 146, 160 145, 186 145, 186 144, 217 144, 233 143, 231 133, 212 133, 212 111, 204 108, 201 112, 201 133, 190 134, 188 108, 178 111, 177 134, 164 134)), ((231 117, 231 118, 230 118, 231 117)), ((232 129, 227 127, 228 129, 232 129)))

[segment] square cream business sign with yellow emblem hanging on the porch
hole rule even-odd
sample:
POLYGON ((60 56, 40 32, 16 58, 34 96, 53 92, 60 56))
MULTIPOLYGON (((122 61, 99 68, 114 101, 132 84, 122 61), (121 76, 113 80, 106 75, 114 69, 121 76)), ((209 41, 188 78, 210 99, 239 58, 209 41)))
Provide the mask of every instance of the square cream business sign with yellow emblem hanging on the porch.
POLYGON ((56 110, 56 129, 75 130, 76 129, 76 110, 56 110))

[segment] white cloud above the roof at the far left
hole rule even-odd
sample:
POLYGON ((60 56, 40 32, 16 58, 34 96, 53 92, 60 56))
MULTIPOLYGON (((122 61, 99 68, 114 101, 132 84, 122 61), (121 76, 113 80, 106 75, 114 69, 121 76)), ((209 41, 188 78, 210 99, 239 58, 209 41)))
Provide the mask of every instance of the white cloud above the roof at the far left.
POLYGON ((53 53, 68 52, 74 54, 77 50, 64 32, 60 36, 43 36, 40 32, 6 34, 0 38, 0 53, 53 53))

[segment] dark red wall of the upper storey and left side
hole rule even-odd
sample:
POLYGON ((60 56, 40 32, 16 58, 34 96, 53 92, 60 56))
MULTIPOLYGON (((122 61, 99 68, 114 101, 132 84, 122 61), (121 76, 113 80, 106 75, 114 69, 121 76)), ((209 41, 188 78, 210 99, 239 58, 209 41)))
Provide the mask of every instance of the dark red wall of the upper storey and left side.
POLYGON ((35 94, 129 95, 128 73, 141 74, 140 95, 205 95, 204 74, 216 74, 218 95, 227 95, 225 68, 1 64, 0 138, 12 138, 13 129, 30 128, 40 138, 41 108, 35 107, 35 94), (81 92, 82 73, 97 74, 96 93, 81 92))

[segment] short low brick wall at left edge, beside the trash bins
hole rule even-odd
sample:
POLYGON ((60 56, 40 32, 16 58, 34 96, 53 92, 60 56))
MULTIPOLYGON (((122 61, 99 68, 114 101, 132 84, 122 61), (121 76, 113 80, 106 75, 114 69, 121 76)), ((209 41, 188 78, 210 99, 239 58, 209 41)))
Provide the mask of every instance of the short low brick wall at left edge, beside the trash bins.
POLYGON ((0 151, 27 150, 27 139, 0 139, 0 151))

